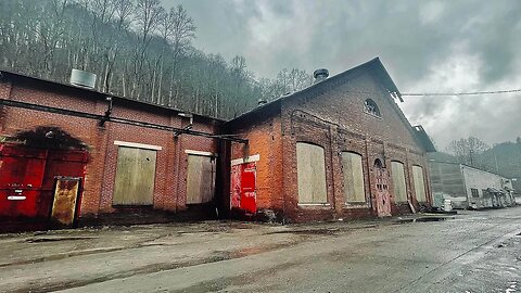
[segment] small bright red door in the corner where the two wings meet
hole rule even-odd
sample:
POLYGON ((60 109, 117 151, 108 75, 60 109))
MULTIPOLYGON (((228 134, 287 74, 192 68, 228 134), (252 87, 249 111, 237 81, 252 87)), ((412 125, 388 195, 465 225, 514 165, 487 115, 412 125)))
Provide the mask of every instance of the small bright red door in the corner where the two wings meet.
POLYGON ((231 207, 250 214, 257 212, 256 164, 244 163, 231 167, 231 207))

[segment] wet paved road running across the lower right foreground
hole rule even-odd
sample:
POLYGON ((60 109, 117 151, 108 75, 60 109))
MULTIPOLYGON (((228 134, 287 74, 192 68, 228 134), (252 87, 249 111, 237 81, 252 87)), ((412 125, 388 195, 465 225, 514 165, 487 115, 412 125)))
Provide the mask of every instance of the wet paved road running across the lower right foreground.
POLYGON ((266 252, 64 292, 521 292, 521 207, 313 232, 266 252))

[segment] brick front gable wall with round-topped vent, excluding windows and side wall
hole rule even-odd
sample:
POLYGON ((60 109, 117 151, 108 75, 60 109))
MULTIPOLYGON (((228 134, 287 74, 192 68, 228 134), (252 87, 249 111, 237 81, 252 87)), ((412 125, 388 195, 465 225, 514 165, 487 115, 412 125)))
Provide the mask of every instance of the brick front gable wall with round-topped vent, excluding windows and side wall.
MULTIPOLYGON (((301 94, 288 99, 282 105, 284 136, 284 192, 287 214, 295 221, 358 218, 374 216, 376 194, 373 162, 380 158, 391 173, 391 161, 404 164, 406 188, 416 204, 412 182, 412 165, 423 167, 428 183, 427 161, 420 145, 409 130, 410 125, 395 102, 381 88, 369 72, 355 72, 348 81, 328 82, 323 93, 301 94), (364 101, 372 99, 381 117, 364 112, 364 101), (296 148, 298 141, 321 145, 326 154, 326 177, 329 206, 300 206, 297 204, 296 148), (346 204, 343 191, 342 151, 361 154, 366 199, 370 204, 346 204)), ((390 177, 390 190, 393 190, 390 177)), ((430 189, 427 191, 430 198, 430 189)), ((395 203, 392 195, 392 213, 410 213, 407 203, 395 203)), ((418 206, 417 206, 418 207, 418 206)))

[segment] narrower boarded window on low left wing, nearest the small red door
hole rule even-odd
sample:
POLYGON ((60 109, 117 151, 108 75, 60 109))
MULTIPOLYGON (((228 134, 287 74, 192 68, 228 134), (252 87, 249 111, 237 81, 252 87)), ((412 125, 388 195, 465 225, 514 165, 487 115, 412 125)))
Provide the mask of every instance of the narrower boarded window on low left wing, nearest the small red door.
POLYGON ((207 203, 214 199, 215 158, 188 155, 187 204, 207 203))

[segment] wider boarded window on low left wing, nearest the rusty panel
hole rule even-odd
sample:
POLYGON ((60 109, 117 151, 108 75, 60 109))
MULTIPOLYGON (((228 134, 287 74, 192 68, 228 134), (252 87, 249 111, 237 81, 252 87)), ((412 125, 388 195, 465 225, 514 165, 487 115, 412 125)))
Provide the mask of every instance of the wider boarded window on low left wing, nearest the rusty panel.
POLYGON ((115 205, 153 204, 156 151, 119 146, 117 152, 115 205))

